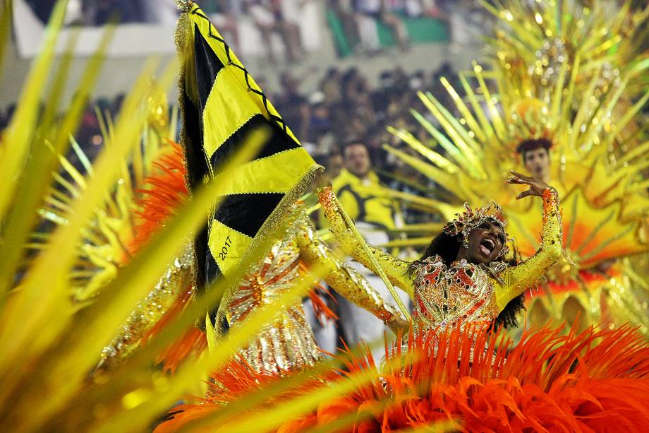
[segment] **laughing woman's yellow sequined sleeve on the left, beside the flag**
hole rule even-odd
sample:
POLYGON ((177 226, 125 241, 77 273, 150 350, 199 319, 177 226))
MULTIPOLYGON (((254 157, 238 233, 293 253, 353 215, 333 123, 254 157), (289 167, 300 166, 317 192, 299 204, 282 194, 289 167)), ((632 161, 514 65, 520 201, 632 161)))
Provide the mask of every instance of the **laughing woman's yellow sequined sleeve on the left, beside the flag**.
MULTIPOLYGON (((363 251, 363 245, 359 244, 356 237, 351 235, 349 227, 347 227, 347 224, 342 217, 344 210, 342 210, 340 203, 336 199, 332 187, 327 186, 326 188, 318 189, 317 194, 322 209, 324 210, 324 215, 326 215, 327 220, 329 220, 329 228, 334 233, 334 237, 336 237, 341 248, 347 254, 356 259, 356 261, 363 264, 365 268, 376 273, 372 262, 368 259, 368 256, 365 255, 365 251, 363 251)), ((385 271, 390 282, 401 290, 404 290, 404 292, 408 293, 408 295, 412 297, 413 283, 407 275, 410 263, 396 259, 396 257, 387 254, 382 249, 372 246, 369 246, 369 248, 371 254, 375 256, 377 261, 380 263, 380 266, 385 271)))

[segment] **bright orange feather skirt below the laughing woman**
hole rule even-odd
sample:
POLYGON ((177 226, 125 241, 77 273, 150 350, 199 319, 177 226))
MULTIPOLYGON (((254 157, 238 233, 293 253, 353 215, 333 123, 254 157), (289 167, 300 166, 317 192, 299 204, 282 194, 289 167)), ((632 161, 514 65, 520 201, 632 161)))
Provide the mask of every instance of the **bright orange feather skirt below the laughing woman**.
MULTIPOLYGON (((351 432, 390 432, 437 422, 469 432, 649 431, 644 403, 649 395, 649 346, 633 328, 591 327, 583 333, 572 328, 564 336, 562 327, 545 326, 523 333, 515 347, 503 337, 471 328, 411 333, 407 350, 401 350, 399 337, 382 379, 324 401, 278 431, 305 432, 350 415, 356 417, 348 427, 351 432)), ((345 352, 346 371, 327 376, 320 386, 344 377, 354 380, 377 368, 369 350, 363 356, 345 352)), ((212 413, 243 398, 250 388, 279 380, 265 373, 246 374, 247 381, 224 380, 221 396, 179 408, 183 412, 175 413, 164 428, 212 413)))

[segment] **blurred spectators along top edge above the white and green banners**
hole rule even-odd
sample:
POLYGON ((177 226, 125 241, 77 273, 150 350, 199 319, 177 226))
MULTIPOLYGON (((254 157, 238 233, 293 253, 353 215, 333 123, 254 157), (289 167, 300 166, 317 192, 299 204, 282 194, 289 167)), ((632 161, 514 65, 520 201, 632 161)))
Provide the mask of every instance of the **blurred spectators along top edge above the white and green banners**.
MULTIPOLYGON (((56 3, 54 0, 25 0, 35 16, 46 23, 56 3)), ((304 28, 300 21, 307 4, 317 0, 203 0, 198 1, 230 45, 240 47, 241 23, 252 23, 262 40, 279 37, 290 62, 300 61, 304 28)), ((466 0, 472 4, 475 0, 466 0)), ((448 0, 328 0, 327 8, 341 25, 347 44, 354 54, 374 55, 382 51, 378 25, 392 32, 394 43, 408 49, 411 35, 406 18, 436 18, 449 21, 461 13, 463 6, 448 0)), ((173 25, 178 18, 175 0, 69 0, 66 11, 68 25, 97 26, 111 20, 120 23, 158 23, 173 25)), ((249 29, 248 29, 249 31, 249 29)), ((269 60, 275 61, 268 50, 269 60)))

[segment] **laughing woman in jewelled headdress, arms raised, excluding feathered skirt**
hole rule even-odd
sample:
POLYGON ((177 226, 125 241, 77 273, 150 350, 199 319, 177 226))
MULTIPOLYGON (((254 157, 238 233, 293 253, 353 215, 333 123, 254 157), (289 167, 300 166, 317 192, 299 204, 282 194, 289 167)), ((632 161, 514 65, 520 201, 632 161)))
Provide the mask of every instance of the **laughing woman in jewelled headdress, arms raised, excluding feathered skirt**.
MULTIPOLYGON (((561 256, 562 225, 557 191, 517 172, 512 172, 507 182, 529 186, 517 199, 527 196, 543 199, 542 246, 526 261, 516 263, 505 259, 509 252, 507 234, 497 205, 478 210, 465 205, 466 212, 444 227, 420 261, 409 263, 370 247, 392 283, 413 299, 413 326, 418 331, 465 324, 478 327, 515 324, 513 310, 522 307, 516 298, 561 256)), ((318 189, 318 196, 341 247, 376 272, 362 245, 349 235, 343 210, 331 187, 318 189)))

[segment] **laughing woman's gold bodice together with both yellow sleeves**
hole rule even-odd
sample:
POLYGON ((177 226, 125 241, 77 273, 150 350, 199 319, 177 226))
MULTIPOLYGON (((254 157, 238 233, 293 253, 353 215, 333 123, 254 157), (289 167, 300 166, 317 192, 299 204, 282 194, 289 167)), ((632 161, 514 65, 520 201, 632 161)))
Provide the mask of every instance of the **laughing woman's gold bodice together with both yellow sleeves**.
MULTIPOLYGON (((348 235, 341 207, 330 187, 319 191, 324 213, 341 246, 373 270, 356 238, 348 235)), ((413 324, 418 328, 435 330, 439 327, 490 324, 507 303, 535 284, 562 255, 562 224, 559 218, 557 191, 543 192, 543 230, 539 251, 517 266, 492 262, 476 266, 456 261, 450 268, 439 256, 410 263, 396 259, 378 248, 370 248, 392 283, 413 299, 413 324), (412 278, 408 268, 413 266, 412 278)))

